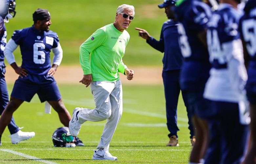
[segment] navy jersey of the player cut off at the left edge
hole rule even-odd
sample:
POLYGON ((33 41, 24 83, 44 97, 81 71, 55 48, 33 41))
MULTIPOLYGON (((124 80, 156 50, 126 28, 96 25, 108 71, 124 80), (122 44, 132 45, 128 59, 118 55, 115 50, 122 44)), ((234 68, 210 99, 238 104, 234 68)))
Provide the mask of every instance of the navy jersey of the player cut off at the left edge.
POLYGON ((0 16, 0 60, 4 60, 4 49, 6 46, 6 28, 3 18, 0 16))

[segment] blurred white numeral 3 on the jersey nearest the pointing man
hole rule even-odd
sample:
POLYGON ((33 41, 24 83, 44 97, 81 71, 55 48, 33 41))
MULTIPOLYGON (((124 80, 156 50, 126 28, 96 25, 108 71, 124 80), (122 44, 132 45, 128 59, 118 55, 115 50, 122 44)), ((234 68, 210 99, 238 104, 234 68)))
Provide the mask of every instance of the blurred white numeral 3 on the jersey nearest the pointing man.
POLYGON ((191 56, 191 48, 188 43, 188 38, 187 38, 185 29, 182 24, 178 25, 178 33, 181 35, 179 37, 179 45, 181 48, 181 54, 183 55, 184 58, 190 57, 191 56))

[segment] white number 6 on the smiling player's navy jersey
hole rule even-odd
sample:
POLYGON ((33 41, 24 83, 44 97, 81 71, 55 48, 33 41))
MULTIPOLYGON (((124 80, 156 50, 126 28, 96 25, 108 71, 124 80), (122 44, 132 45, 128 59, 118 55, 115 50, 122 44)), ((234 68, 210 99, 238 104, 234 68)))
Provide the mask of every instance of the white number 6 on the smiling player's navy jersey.
POLYGON ((35 64, 44 64, 45 62, 45 53, 44 51, 40 51, 38 48, 45 49, 45 45, 43 43, 34 43, 33 45, 33 61, 35 64))

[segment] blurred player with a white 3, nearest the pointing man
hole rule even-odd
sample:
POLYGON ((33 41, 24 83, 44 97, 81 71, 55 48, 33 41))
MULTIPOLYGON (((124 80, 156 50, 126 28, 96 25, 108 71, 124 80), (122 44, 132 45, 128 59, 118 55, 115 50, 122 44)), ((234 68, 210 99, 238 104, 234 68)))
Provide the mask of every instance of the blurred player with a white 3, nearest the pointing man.
POLYGON ((212 12, 200 0, 179 0, 174 11, 177 20, 181 22, 178 33, 181 53, 184 56, 180 85, 187 92, 197 136, 189 161, 199 163, 206 153, 208 139, 208 106, 203 98, 203 91, 211 67, 206 43, 206 25, 212 12))

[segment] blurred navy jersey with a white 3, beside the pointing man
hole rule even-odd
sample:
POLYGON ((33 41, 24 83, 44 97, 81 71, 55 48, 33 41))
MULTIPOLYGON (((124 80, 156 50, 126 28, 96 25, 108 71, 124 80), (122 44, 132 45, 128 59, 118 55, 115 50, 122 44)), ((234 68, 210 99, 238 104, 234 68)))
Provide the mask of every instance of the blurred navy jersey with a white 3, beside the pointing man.
POLYGON ((177 4, 175 14, 181 24, 178 26, 179 45, 184 57, 181 69, 181 89, 202 90, 209 77, 211 64, 207 47, 199 39, 199 33, 206 30, 212 14, 210 7, 200 0, 185 0, 177 4))

